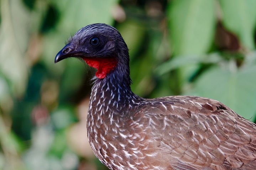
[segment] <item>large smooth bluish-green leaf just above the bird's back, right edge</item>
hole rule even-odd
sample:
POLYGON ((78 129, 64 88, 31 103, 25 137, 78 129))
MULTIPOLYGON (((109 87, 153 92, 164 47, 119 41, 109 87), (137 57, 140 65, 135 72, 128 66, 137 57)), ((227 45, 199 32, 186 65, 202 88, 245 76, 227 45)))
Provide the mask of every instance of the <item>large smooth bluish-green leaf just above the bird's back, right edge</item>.
POLYGON ((214 67, 197 79, 194 89, 186 95, 218 100, 237 114, 250 119, 256 113, 256 66, 244 66, 236 71, 214 67))

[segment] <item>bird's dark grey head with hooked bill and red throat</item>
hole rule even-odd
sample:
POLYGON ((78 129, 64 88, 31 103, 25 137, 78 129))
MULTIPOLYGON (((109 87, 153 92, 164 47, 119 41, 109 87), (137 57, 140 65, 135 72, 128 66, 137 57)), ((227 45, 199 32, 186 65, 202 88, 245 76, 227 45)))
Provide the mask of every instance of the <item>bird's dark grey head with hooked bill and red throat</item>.
POLYGON ((105 78, 117 67, 129 72, 129 53, 121 34, 107 24, 90 24, 81 28, 68 44, 59 51, 54 62, 68 57, 82 58, 89 66, 96 68, 96 77, 105 78))

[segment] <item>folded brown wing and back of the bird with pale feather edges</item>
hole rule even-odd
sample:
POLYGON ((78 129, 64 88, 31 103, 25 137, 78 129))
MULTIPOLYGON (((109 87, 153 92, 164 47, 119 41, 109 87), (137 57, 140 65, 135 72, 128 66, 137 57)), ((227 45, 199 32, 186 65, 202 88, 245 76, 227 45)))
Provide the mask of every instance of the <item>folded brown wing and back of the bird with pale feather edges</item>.
POLYGON ((158 98, 145 106, 173 169, 255 170, 256 125, 207 98, 158 98), (208 167, 208 168, 207 168, 208 167))

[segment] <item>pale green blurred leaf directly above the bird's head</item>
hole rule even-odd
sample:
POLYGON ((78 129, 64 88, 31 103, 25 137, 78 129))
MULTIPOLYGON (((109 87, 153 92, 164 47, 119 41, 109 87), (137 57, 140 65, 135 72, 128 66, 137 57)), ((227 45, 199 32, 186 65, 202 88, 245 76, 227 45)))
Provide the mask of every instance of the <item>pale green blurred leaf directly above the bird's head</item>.
POLYGON ((118 0, 63 0, 62 3, 55 2, 59 12, 62 13, 60 28, 74 34, 78 29, 88 24, 112 24, 114 20, 111 13, 118 0))

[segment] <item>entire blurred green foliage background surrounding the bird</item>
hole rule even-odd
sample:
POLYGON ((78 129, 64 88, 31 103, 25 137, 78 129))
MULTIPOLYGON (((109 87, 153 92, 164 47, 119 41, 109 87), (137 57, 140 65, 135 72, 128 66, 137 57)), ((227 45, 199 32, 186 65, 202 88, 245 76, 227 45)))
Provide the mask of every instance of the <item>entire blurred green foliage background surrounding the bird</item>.
POLYGON ((199 95, 256 118, 255 0, 0 0, 0 170, 101 170, 87 142, 94 71, 54 64, 91 23, 130 49, 132 90, 199 95))

